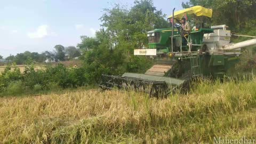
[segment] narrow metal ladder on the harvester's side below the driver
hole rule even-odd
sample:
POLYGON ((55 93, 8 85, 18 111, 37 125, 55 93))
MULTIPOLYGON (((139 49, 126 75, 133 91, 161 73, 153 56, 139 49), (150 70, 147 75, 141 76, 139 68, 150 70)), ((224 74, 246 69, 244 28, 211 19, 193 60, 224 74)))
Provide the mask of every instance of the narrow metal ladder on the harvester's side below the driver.
POLYGON ((193 76, 201 76, 201 62, 199 55, 190 57, 191 73, 193 76))

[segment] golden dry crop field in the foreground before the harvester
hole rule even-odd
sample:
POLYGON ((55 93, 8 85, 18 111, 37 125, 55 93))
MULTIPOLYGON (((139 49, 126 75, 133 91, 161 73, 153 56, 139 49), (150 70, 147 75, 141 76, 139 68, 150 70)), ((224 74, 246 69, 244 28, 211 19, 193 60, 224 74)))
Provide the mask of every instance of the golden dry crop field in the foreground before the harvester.
POLYGON ((167 99, 79 90, 0 98, 3 143, 204 143, 255 138, 256 81, 201 83, 167 99))

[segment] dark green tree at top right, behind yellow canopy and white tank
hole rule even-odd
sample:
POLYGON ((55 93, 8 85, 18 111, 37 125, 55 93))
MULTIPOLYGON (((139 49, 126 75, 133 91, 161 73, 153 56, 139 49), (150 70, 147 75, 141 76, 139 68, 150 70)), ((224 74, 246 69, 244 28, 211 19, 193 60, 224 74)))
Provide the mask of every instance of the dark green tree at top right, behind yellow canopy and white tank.
MULTIPOLYGON (((190 0, 187 3, 182 3, 184 8, 195 5, 213 9, 213 25, 226 24, 231 30, 238 32, 246 29, 249 23, 255 23, 255 0, 190 0)), ((255 28, 255 26, 251 28, 255 28)))

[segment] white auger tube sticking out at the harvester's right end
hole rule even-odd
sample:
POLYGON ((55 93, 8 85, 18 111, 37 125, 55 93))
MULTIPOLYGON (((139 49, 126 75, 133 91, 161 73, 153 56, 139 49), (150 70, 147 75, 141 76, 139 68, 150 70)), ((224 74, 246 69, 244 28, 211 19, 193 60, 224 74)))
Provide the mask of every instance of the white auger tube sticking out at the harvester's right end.
POLYGON ((235 43, 235 44, 224 45, 223 47, 221 47, 219 49, 220 50, 235 50, 235 49, 252 46, 252 45, 256 45, 256 38, 253 38, 253 39, 250 39, 250 40, 244 41, 244 42, 235 43))

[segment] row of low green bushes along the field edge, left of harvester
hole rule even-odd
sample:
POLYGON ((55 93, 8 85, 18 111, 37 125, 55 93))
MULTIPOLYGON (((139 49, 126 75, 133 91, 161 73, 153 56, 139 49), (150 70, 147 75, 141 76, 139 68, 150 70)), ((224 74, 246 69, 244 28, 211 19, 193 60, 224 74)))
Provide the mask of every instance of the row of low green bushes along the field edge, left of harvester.
POLYGON ((120 75, 125 71, 143 73, 151 65, 148 62, 149 59, 145 57, 130 57, 127 62, 120 57, 118 61, 115 61, 117 55, 120 54, 113 55, 106 52, 105 57, 102 58, 95 49, 95 51, 86 53, 84 65, 79 68, 67 68, 58 63, 56 66, 35 69, 33 61, 27 61, 21 73, 19 68, 13 70, 11 66, 7 66, 2 75, 0 74, 0 96, 95 85, 102 74, 120 75), (98 54, 97 59, 92 57, 94 54, 98 54), (108 61, 104 60, 105 58, 108 61), (90 62, 90 59, 94 60, 90 62))

